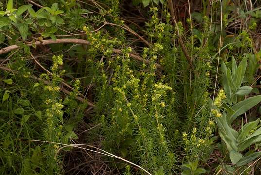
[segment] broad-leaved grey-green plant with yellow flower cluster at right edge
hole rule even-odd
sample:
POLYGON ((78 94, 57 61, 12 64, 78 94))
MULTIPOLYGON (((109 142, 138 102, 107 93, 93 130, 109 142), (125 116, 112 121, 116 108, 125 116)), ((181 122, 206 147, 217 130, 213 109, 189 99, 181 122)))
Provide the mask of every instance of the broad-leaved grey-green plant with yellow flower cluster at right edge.
POLYGON ((238 102, 238 96, 248 95, 252 90, 252 87, 241 86, 246 66, 246 57, 242 59, 238 67, 234 57, 232 58, 232 73, 222 63, 222 80, 225 93, 220 90, 214 101, 214 109, 212 109, 212 113, 216 116, 219 135, 226 143, 232 163, 238 167, 253 161, 261 155, 260 152, 253 152, 252 150, 245 153, 245 156, 241 153, 251 145, 261 141, 260 119, 245 124, 242 120, 239 131, 231 126, 238 116, 244 114, 261 101, 261 95, 258 95, 238 102))

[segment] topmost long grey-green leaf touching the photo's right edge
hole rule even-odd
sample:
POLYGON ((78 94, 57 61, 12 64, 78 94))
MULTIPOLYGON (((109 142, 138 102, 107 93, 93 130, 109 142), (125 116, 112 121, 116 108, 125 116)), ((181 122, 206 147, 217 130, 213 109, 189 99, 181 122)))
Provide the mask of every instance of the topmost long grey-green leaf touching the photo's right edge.
POLYGON ((235 111, 229 118, 228 124, 231 124, 238 116, 244 114, 246 111, 257 105, 261 101, 261 95, 247 98, 232 106, 235 111))

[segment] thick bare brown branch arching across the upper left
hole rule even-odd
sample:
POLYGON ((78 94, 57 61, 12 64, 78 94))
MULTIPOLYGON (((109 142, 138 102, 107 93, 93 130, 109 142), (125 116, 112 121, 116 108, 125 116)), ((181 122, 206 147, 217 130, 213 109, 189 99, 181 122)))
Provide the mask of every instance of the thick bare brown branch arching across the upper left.
MULTIPOLYGON (((90 45, 91 43, 87 40, 84 40, 84 39, 72 39, 72 38, 67 38, 67 39, 56 39, 56 40, 52 40, 52 39, 47 39, 47 40, 43 40, 43 41, 36 41, 34 43, 28 43, 26 44, 27 46, 32 46, 32 45, 48 45, 48 44, 57 44, 57 43, 75 43, 75 44, 86 44, 86 45, 90 45)), ((8 47, 5 47, 3 49, 0 50, 0 54, 3 54, 3 53, 8 53, 14 49, 18 49, 19 46, 17 45, 12 45, 12 46, 8 46, 8 47)), ((122 51, 119 50, 119 49, 113 49, 113 52, 114 53, 117 53, 117 54, 122 54, 122 51)), ((142 57, 140 57, 139 55, 136 55, 136 54, 132 54, 130 53, 130 57, 138 60, 138 61, 141 61, 141 62, 144 62, 144 63, 147 63, 149 64, 150 62, 148 60, 145 60, 143 59, 142 57)), ((157 68, 162 68, 162 66, 160 64, 156 64, 157 68)))

